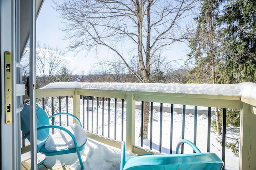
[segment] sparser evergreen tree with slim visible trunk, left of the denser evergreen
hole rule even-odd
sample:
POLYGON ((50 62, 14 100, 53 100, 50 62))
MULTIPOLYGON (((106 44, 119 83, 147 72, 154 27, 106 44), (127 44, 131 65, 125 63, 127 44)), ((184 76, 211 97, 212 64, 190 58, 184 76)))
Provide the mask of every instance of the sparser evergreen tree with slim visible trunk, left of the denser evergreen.
MULTIPOLYGON (((189 71, 190 82, 216 84, 216 66, 221 54, 218 34, 218 14, 220 0, 204 0, 200 14, 195 18, 197 27, 194 37, 189 42, 191 53, 187 62, 194 61, 194 68, 189 71)), ((218 135, 221 135, 219 110, 215 109, 218 135)))

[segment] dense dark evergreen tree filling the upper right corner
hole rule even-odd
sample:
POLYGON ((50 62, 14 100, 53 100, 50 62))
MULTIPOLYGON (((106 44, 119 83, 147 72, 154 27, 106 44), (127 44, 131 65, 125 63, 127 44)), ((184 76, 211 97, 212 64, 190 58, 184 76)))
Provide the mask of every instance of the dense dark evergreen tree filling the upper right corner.
POLYGON ((256 82, 256 1, 227 0, 221 22, 226 54, 219 82, 256 82))

